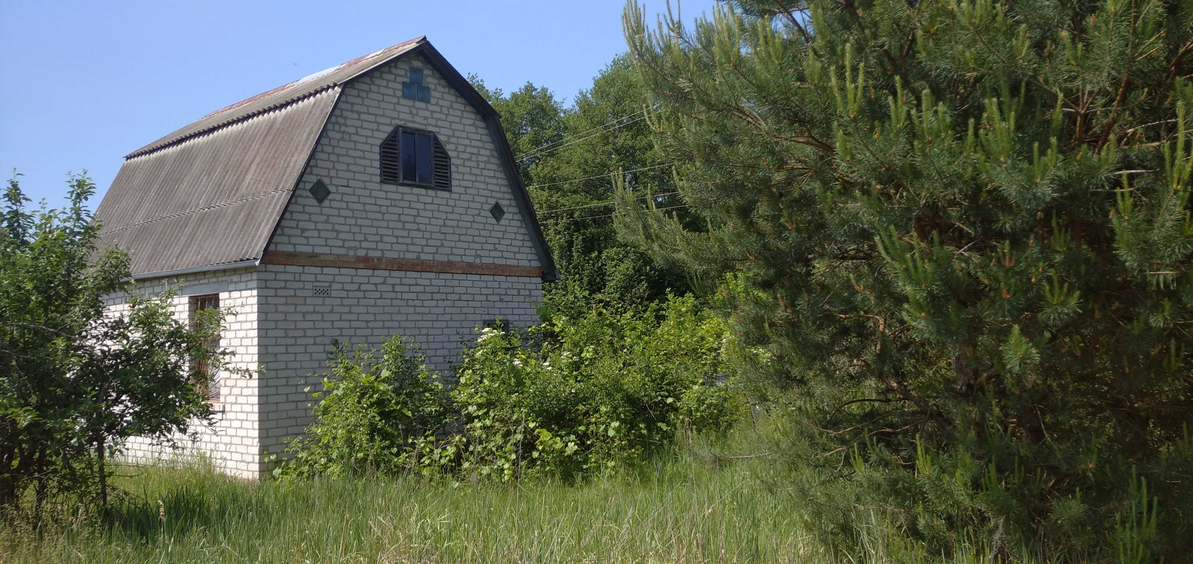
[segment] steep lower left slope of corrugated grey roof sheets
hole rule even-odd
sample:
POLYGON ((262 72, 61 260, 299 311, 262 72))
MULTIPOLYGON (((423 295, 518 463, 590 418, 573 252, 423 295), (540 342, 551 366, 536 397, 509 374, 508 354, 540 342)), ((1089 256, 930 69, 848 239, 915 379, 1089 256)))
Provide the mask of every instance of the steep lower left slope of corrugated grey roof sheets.
POLYGON ((324 88, 124 162, 95 210, 134 275, 261 256, 335 105, 324 88))

